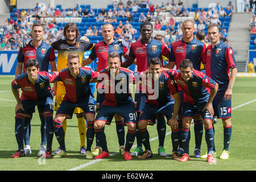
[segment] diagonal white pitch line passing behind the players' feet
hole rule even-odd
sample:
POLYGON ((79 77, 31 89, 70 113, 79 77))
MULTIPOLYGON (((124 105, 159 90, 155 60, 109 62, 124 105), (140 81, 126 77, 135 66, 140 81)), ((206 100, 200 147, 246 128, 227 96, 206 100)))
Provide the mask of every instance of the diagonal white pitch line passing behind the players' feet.
MULTIPOLYGON (((255 101, 256 101, 256 99, 255 99, 255 100, 252 100, 252 101, 249 101, 249 102, 246 102, 245 104, 241 104, 241 105, 239 105, 239 106, 234 107, 232 110, 236 110, 237 108, 240 108, 240 107, 242 107, 242 106, 245 106, 245 105, 250 104, 251 102, 255 102, 255 101)), ((171 133, 172 133, 171 131, 170 131, 169 133, 166 133, 166 136, 167 136, 167 135, 170 135, 171 133)), ((156 139, 158 139, 158 137, 151 138, 151 139, 150 139, 150 142, 153 141, 153 140, 156 140, 156 139)), ((135 147, 137 147, 137 144, 133 145, 133 147, 131 147, 131 148, 135 148, 135 147)), ((117 155, 117 154, 119 154, 119 151, 118 151, 118 152, 114 152, 113 154, 110 154, 109 156, 115 156, 115 155, 117 155)), ((107 158, 107 159, 108 159, 108 158, 107 158)), ((90 165, 96 164, 96 163, 98 163, 98 162, 101 162, 101 160, 104 160, 104 159, 92 160, 92 161, 90 161, 89 163, 85 163, 85 164, 82 164, 82 165, 77 166, 77 167, 75 167, 75 168, 68 169, 67 171, 77 171, 77 170, 79 170, 79 169, 82 169, 82 168, 85 168, 85 167, 87 167, 87 166, 90 166, 90 165)))

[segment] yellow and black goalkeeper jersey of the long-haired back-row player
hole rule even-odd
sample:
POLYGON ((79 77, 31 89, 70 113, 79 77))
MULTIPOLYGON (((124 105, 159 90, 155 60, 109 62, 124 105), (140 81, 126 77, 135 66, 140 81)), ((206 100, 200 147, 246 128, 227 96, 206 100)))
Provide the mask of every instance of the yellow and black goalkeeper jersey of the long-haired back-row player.
POLYGON ((61 39, 53 42, 52 47, 58 51, 57 57, 57 71, 67 68, 68 54, 71 52, 76 52, 80 57, 80 63, 82 65, 82 58, 84 57, 85 51, 90 51, 94 47, 93 43, 80 40, 75 44, 68 44, 67 40, 61 39))

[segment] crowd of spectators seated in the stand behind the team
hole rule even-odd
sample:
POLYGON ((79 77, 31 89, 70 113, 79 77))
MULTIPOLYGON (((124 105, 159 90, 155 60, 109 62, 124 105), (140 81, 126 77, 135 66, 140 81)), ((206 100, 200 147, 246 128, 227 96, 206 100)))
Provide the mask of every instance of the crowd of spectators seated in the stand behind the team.
MULTIPOLYGON (((233 5, 229 4, 225 7, 217 3, 217 6, 213 9, 198 9, 193 16, 195 20, 195 28, 197 30, 205 30, 210 23, 218 23, 221 25, 219 19, 220 16, 232 16, 233 5)), ((10 17, 0 26, 1 37, 1 50, 18 49, 20 40, 31 38, 32 24, 28 23, 30 18, 35 18, 35 21, 40 21, 44 24, 44 30, 46 34, 43 36, 44 42, 51 43, 57 39, 63 38, 63 27, 58 27, 58 22, 55 18, 60 17, 81 17, 81 18, 94 18, 95 22, 114 22, 118 23, 115 27, 115 38, 126 39, 129 44, 137 41, 139 36, 139 30, 133 27, 131 22, 134 22, 135 17, 138 17, 138 22, 150 21, 154 22, 154 30, 162 30, 164 28, 165 42, 168 46, 171 46, 173 42, 182 36, 181 25, 182 22, 176 22, 175 17, 189 16, 188 8, 184 6, 184 3, 179 0, 175 2, 172 0, 170 3, 160 3, 155 5, 150 0, 128 0, 125 4, 119 0, 113 0, 113 9, 106 11, 102 8, 100 11, 94 11, 94 9, 82 9, 79 4, 73 9, 60 9, 57 7, 54 9, 48 5, 45 9, 39 7, 36 3, 34 9, 16 9, 14 18, 10 17), (139 9, 148 8, 148 12, 138 13, 139 9), (166 16, 163 16, 161 12, 165 12, 166 16), (139 14, 139 15, 138 15, 139 14), (117 20, 117 18, 126 17, 126 22, 117 20), (46 18, 53 18, 53 20, 47 22, 46 18), (14 20, 15 19, 15 20, 14 20), (134 35, 137 35, 135 38, 134 35)), ((139 24, 138 24, 139 26, 139 24)), ((228 30, 223 30, 225 33, 223 39, 228 36, 228 30)), ((256 32, 256 31, 255 31, 256 32)), ((100 36, 102 35, 102 26, 89 26, 86 27, 86 36, 100 36)), ((81 35, 82 36, 82 35, 81 35)), ((207 36, 206 36, 207 38, 207 36)), ((206 39, 207 41, 207 39, 206 39)))

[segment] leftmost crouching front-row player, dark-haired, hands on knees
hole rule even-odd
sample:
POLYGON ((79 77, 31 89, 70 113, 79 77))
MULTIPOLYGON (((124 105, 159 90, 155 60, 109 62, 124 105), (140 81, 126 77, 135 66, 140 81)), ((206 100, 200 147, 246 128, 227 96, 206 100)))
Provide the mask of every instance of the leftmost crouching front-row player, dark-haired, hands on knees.
POLYGON ((23 134, 24 134, 24 119, 31 118, 35 106, 38 106, 39 113, 42 113, 46 119, 46 137, 47 151, 52 150, 53 139, 53 94, 50 82, 56 78, 56 72, 39 72, 39 63, 35 59, 28 59, 26 64, 26 73, 18 75, 11 82, 11 90, 17 101, 15 106, 15 137, 18 143, 18 150, 11 158, 19 158, 25 155, 23 134), (22 95, 19 97, 18 89, 22 90, 22 95))

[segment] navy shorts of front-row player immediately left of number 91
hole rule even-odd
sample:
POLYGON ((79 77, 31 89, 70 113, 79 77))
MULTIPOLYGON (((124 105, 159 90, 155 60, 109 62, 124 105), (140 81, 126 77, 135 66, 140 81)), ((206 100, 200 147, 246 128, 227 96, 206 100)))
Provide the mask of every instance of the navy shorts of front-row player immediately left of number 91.
POLYGON ((95 105, 93 102, 93 97, 89 96, 87 100, 83 100, 76 103, 63 100, 59 106, 59 109, 56 112, 56 116, 58 114, 63 114, 68 119, 71 119, 76 107, 80 107, 84 111, 84 113, 95 114, 95 105))

